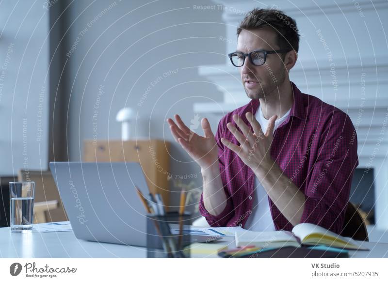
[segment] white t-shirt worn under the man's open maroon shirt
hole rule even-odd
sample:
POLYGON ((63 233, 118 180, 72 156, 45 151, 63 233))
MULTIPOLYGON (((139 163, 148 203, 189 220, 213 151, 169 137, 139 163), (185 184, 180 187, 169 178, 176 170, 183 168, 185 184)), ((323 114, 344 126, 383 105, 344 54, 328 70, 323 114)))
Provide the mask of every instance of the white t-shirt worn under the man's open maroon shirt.
MULTIPOLYGON (((275 121, 275 129, 282 124, 290 114, 291 109, 284 114, 280 119, 275 121)), ((261 106, 255 115, 258 120, 261 130, 266 133, 268 120, 265 119, 261 106)), ((255 177, 255 191, 252 197, 252 214, 246 220, 245 229, 252 231, 275 231, 274 221, 272 220, 270 204, 268 202, 268 195, 264 187, 261 185, 259 178, 255 177)))

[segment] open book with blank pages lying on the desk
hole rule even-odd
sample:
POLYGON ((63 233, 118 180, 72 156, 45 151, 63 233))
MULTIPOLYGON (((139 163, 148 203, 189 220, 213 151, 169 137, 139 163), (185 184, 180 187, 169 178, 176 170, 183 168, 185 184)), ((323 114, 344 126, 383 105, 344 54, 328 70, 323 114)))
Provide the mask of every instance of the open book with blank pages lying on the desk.
POLYGON ((355 240, 342 237, 321 226, 300 223, 289 231, 235 233, 236 247, 255 245, 259 248, 299 247, 301 245, 326 245, 349 250, 368 250, 355 240))

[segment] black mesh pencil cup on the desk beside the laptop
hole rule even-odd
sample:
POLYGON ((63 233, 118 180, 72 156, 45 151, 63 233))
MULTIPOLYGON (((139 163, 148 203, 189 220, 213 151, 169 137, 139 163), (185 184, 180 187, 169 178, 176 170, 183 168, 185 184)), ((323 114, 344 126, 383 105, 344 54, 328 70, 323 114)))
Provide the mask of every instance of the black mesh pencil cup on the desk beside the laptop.
POLYGON ((191 214, 168 212, 162 215, 147 215, 147 257, 148 258, 189 258, 190 233, 185 232, 191 225, 191 214))

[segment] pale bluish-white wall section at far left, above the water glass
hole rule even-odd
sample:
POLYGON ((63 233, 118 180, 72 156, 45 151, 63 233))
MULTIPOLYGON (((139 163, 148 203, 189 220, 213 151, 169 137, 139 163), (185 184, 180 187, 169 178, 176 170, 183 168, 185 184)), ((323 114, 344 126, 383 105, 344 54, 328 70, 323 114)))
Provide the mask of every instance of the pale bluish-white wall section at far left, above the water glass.
POLYGON ((0 175, 47 170, 49 11, 0 1, 0 175))

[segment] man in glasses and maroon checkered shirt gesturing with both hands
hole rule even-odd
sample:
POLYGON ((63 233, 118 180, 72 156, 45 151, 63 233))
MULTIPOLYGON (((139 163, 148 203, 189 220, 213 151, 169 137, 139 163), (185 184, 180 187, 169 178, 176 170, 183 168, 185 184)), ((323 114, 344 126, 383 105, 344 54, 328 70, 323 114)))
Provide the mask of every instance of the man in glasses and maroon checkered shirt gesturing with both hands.
POLYGON ((204 137, 178 115, 167 120, 201 167, 201 214, 211 226, 273 231, 309 222, 340 233, 358 165, 350 118, 290 81, 299 48, 292 18, 254 9, 237 35, 229 58, 251 101, 226 114, 215 137, 206 118, 204 137))

